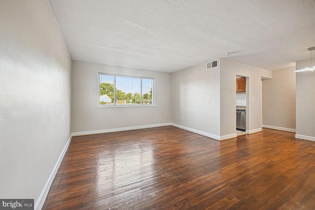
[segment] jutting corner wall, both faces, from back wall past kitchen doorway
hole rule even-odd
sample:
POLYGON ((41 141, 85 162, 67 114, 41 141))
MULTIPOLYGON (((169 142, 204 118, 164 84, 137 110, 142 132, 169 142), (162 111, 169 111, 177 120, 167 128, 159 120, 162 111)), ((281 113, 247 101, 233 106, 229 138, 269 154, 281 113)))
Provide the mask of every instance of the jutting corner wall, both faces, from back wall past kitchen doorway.
POLYGON ((247 100, 248 132, 261 130, 261 78, 271 78, 271 71, 225 59, 214 69, 201 63, 172 73, 172 122, 217 140, 235 137, 237 75, 248 77, 254 97, 247 100))

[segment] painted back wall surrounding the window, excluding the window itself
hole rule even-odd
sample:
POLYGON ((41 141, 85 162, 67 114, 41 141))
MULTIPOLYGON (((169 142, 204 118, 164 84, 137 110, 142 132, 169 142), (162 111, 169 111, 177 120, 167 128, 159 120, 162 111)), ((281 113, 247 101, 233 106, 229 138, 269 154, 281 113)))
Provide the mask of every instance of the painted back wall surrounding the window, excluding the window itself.
POLYGON ((171 74, 73 61, 71 111, 72 132, 171 123, 171 74), (97 71, 156 77, 156 106, 98 108, 97 71))

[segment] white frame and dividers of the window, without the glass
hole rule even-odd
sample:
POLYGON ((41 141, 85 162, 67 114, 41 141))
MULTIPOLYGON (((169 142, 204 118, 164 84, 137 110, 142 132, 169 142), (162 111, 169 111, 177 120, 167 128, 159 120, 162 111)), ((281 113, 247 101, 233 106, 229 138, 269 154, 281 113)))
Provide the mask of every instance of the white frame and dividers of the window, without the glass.
POLYGON ((111 72, 103 72, 97 71, 97 107, 98 108, 109 108, 109 107, 152 107, 156 106, 156 78, 151 76, 140 76, 140 75, 131 75, 131 74, 120 74, 120 73, 111 73, 111 72), (100 81, 99 76, 113 76, 114 77, 114 104, 101 104, 100 103, 100 81), (126 77, 126 78, 136 78, 141 79, 141 104, 116 104, 116 77, 126 77), (152 80, 152 104, 142 104, 142 79, 151 79, 152 80))

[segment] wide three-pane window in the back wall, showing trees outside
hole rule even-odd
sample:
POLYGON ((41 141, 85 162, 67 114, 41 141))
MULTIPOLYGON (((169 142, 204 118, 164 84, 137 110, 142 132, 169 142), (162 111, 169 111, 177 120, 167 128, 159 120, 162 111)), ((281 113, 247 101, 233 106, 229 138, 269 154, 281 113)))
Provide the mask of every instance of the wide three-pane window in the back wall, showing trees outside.
POLYGON ((155 78, 98 72, 98 107, 155 106, 155 78))

